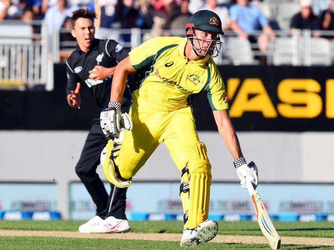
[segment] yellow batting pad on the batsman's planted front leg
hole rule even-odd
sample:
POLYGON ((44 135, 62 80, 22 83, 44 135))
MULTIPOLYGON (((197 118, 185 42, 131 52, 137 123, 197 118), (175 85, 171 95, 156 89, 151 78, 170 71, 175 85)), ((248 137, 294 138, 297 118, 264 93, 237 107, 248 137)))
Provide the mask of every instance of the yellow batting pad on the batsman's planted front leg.
POLYGON ((207 148, 203 142, 197 142, 188 162, 189 180, 189 217, 188 228, 195 228, 205 221, 209 214, 211 185, 211 164, 207 148))

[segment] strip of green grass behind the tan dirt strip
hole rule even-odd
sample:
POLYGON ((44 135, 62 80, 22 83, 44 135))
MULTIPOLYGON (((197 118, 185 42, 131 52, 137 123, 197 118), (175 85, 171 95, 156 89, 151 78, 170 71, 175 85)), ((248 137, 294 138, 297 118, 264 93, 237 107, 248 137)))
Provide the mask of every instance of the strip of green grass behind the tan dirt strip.
MULTIPOLYGON (((84 221, 7 221, 0 220, 0 229, 7 230, 46 230, 77 232, 84 221)), ((218 221, 221 235, 262 235, 257 222, 218 221)), ((274 221, 277 232, 281 236, 325 237, 334 238, 334 222, 280 222, 274 221)), ((181 233, 181 221, 131 221, 132 232, 140 233, 181 233)), ((2 248, 0 248, 2 249, 2 248)))

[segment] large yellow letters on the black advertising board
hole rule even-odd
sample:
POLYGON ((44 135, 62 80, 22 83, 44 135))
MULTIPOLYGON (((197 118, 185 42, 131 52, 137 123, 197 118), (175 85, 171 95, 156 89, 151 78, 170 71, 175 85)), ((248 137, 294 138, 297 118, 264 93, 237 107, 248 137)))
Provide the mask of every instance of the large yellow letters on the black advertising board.
POLYGON ((286 118, 314 118, 323 108, 327 118, 334 118, 334 79, 326 81, 325 103, 320 96, 321 85, 314 79, 283 79, 277 85, 279 103, 274 106, 263 82, 259 78, 227 80, 228 98, 234 99, 231 117, 242 117, 245 112, 261 112, 266 118, 279 115, 286 118), (242 84, 240 87, 239 85, 242 84), (236 90, 239 88, 238 92, 236 90), (252 98, 249 96, 252 95, 252 98))

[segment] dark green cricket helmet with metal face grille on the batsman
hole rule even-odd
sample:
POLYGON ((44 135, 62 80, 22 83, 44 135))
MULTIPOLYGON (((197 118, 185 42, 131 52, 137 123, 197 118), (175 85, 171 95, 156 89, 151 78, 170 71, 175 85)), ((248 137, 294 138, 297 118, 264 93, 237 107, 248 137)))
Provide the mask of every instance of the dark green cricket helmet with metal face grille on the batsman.
POLYGON ((217 35, 217 37, 214 39, 207 39, 205 37, 196 36, 195 30, 224 35, 224 32, 221 29, 221 20, 219 16, 210 10, 200 10, 194 13, 190 17, 189 23, 185 25, 185 34, 187 35, 188 40, 191 42, 196 55, 210 55, 211 57, 218 56, 221 49, 219 35, 217 35), (197 40, 198 43, 196 43, 195 40, 197 40), (208 42, 210 43, 208 44, 208 42), (203 50, 206 50, 206 52, 203 53, 203 50))

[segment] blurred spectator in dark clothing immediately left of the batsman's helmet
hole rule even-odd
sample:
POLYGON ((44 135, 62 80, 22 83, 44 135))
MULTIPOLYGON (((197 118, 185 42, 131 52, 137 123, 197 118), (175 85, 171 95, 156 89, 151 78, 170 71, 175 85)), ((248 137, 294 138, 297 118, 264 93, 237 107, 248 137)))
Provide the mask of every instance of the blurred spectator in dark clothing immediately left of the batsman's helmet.
POLYGON ((192 14, 189 12, 189 0, 181 0, 180 5, 177 6, 172 13, 171 22, 169 23, 168 29, 171 30, 183 30, 185 24, 188 24, 189 18, 192 14))

